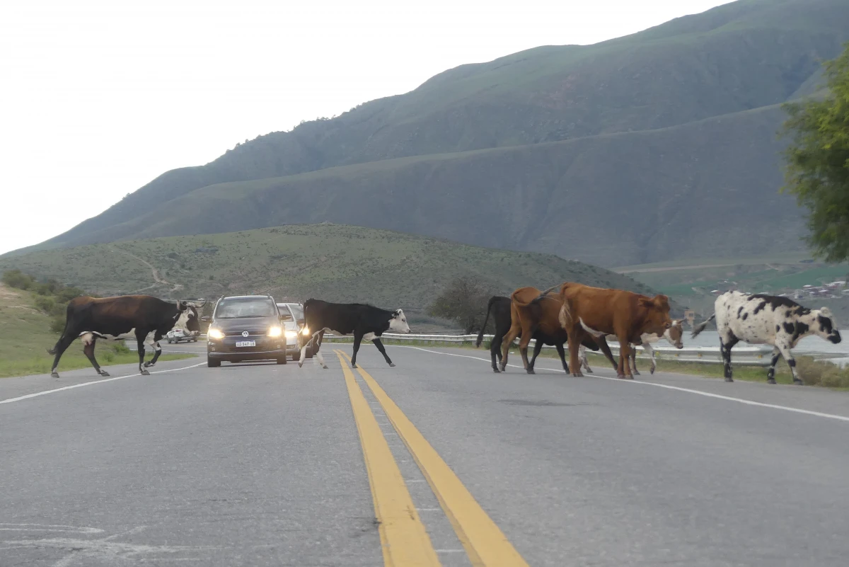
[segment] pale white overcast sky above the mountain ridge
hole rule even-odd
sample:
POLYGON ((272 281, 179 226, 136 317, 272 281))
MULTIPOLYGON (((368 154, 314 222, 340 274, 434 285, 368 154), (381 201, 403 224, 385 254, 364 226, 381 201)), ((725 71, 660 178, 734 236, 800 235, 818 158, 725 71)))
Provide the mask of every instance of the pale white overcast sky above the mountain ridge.
POLYGON ((0 3, 0 254, 165 171, 540 45, 728 0, 0 3))

